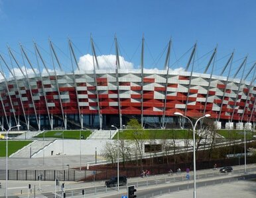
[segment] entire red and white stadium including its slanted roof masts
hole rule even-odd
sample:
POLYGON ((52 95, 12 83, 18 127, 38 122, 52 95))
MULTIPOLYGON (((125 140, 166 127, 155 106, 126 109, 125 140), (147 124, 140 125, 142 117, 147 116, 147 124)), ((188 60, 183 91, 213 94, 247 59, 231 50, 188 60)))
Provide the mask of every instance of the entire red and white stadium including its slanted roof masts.
MULTIPOLYGON (((144 39, 143 39, 144 41, 144 39)), ((227 59, 220 75, 213 75, 216 49, 214 49, 204 72, 194 72, 194 53, 184 71, 169 69, 170 46, 162 70, 144 68, 142 42, 141 68, 121 69, 119 48, 115 38, 115 69, 99 69, 94 42, 91 40, 94 57, 94 70, 82 71, 78 67, 76 56, 69 41, 70 54, 77 69, 72 65, 72 72, 61 71, 56 51, 50 42, 52 57, 56 59, 60 70, 50 72, 36 44, 34 49, 38 61, 46 73, 36 73, 27 53, 21 46, 21 53, 27 59, 34 74, 27 74, 21 69, 13 52, 9 54, 21 69, 22 76, 17 76, 9 69, 12 77, 5 77, 3 69, 0 82, 0 121, 1 125, 21 125, 20 129, 42 130, 62 127, 64 129, 100 128, 111 125, 121 127, 131 117, 137 118, 143 127, 173 127, 179 123, 174 112, 188 117, 201 117, 210 114, 218 128, 242 129, 255 123, 255 64, 245 74, 245 63, 239 66, 235 75, 230 73, 233 53, 227 59), (188 71, 190 69, 190 71, 188 71), (236 78, 237 73, 243 77, 236 78), (246 81, 253 73, 251 81, 246 81), (245 123, 245 125, 243 125, 245 123), (236 125, 235 125, 236 124, 236 125)), ((1 65, 10 68, 5 58, 0 56, 1 65)), ((40 69, 42 70, 42 69, 40 69)))

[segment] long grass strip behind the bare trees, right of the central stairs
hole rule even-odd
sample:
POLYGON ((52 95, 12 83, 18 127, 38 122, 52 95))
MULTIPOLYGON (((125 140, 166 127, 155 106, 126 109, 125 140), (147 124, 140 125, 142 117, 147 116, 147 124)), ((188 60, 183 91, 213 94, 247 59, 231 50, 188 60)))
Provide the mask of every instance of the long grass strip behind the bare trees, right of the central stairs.
MULTIPOLYGON (((192 139, 192 130, 184 129, 151 129, 151 130, 140 130, 135 133, 134 130, 120 130, 119 139, 192 139)), ((117 134, 113 137, 117 139, 117 134)))

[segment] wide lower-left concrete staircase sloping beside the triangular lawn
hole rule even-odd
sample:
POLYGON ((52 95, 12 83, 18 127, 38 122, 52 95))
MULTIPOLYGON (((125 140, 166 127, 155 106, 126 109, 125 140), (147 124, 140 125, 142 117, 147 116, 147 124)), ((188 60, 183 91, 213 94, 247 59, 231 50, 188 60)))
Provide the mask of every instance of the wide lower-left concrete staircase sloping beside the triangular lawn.
POLYGON ((47 147, 48 145, 52 144, 55 141, 55 139, 51 140, 35 140, 27 147, 23 147, 20 150, 17 150, 17 152, 11 154, 10 157, 12 158, 31 158, 33 154, 36 154, 39 150, 44 149, 44 147, 47 147))

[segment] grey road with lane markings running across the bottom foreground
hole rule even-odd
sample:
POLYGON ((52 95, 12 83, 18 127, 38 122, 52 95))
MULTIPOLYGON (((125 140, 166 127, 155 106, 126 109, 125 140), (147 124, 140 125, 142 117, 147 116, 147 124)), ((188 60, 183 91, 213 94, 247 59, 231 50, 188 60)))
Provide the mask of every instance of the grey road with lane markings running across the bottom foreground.
MULTIPOLYGON (((218 183, 229 183, 232 181, 243 180, 243 176, 247 177, 249 174, 256 178, 256 166, 255 164, 247 165, 248 174, 244 174, 244 166, 234 166, 233 173, 222 174, 218 170, 198 170, 197 171, 197 185, 213 185, 218 183), (241 176, 241 177, 240 177, 241 176), (240 177, 240 178, 239 178, 240 177)), ((186 172, 181 174, 162 174, 149 176, 148 178, 128 178, 127 185, 136 185, 139 197, 152 197, 152 194, 159 195, 164 192, 174 192, 182 189, 192 189, 193 185, 193 172, 190 172, 190 180, 186 179, 186 172)), ((5 181, 2 182, 2 188, 0 189, 0 195, 5 193, 5 181)), ((38 181, 9 181, 9 195, 13 197, 26 197, 27 186, 31 183, 32 193, 35 192, 35 197, 54 197, 54 182, 42 181, 41 191, 38 190, 38 181), (22 193, 21 193, 22 192, 22 193)), ((60 185, 62 182, 60 182, 60 185)), ((58 194, 61 194, 61 186, 58 186, 58 194)), ((105 187, 104 181, 97 182, 65 182, 66 197, 83 197, 82 189, 85 189, 86 197, 121 197, 125 195, 127 191, 126 186, 119 187, 119 193, 115 187, 105 187)))

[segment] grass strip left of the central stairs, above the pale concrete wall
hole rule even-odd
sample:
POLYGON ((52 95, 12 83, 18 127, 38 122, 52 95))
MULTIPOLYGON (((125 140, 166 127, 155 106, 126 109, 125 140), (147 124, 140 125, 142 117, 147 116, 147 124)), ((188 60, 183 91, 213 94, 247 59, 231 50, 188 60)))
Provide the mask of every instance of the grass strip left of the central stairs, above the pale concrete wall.
MULTIPOLYGON (((91 135, 91 131, 82 131, 81 137, 82 139, 86 139, 89 135, 91 135)), ((40 133, 36 137, 51 137, 51 138, 63 138, 64 139, 80 139, 80 130, 69 130, 69 131, 45 131, 44 133, 40 133)))

